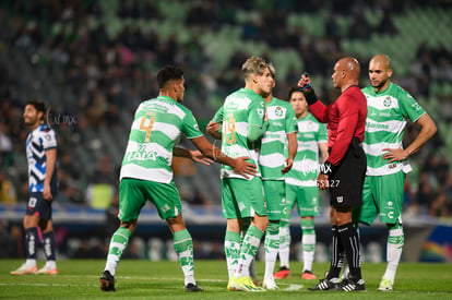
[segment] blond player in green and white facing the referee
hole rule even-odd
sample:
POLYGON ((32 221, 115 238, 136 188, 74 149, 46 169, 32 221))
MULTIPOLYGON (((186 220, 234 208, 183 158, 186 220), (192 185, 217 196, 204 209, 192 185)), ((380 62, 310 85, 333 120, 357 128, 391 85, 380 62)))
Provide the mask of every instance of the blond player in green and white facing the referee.
MULTIPOLYGON (((224 105, 207 125, 207 131, 222 137, 222 149, 233 157, 249 156, 258 165, 260 142, 269 128, 262 95, 273 88, 267 63, 251 57, 242 64, 245 88, 226 97, 224 105), (222 133, 215 132, 222 128, 222 133)), ((259 165, 258 165, 259 166, 259 165)), ((227 219, 225 254, 229 290, 259 291, 252 281, 249 266, 255 257, 267 227, 267 209, 260 169, 250 179, 230 168, 222 167, 222 206, 227 219), (251 219, 243 240, 240 239, 243 220, 251 219)))

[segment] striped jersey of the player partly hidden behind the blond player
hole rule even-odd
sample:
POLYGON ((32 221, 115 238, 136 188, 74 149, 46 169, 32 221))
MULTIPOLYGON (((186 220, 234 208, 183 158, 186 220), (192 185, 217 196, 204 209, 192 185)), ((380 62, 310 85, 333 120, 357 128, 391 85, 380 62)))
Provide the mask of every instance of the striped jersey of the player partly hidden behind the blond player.
POLYGON ((270 125, 262 137, 259 165, 263 180, 284 180, 281 169, 286 165, 284 148, 287 134, 297 132, 297 117, 294 108, 287 101, 275 97, 265 104, 270 125))

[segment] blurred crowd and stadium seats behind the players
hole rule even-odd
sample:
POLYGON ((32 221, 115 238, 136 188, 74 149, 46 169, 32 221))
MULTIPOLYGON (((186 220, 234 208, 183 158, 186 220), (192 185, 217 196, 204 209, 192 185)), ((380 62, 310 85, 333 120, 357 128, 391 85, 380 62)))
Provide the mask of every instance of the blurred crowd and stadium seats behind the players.
MULTIPOLYGON (((136 106, 157 95, 155 76, 163 65, 185 70, 185 105, 205 130, 225 96, 243 86, 241 64, 250 56, 274 63, 276 97, 286 99, 306 71, 318 96, 329 103, 337 96, 331 74, 338 58, 358 59, 364 87, 369 83, 369 59, 386 53, 393 81, 412 93, 439 128, 411 157, 414 171, 406 180, 405 214, 450 220, 452 2, 300 3, 1 0, 0 203, 27 201, 27 128, 22 113, 28 99, 48 104, 46 121, 58 134, 56 203, 115 209, 130 122, 136 106)), ((408 123, 406 143, 417 132, 408 123)), ((181 143, 191 147, 186 140, 181 143)), ((221 205, 218 165, 177 158, 174 170, 188 205, 221 205)), ((328 202, 322 205, 328 207, 328 202)))

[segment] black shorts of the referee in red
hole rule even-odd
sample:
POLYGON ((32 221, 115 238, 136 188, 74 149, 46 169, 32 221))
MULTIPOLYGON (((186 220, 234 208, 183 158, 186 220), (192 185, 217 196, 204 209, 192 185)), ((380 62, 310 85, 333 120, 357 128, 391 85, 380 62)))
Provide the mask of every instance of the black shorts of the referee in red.
POLYGON ((362 184, 366 177, 367 158, 359 140, 352 139, 344 158, 330 176, 330 204, 334 208, 350 208, 362 203, 362 184))

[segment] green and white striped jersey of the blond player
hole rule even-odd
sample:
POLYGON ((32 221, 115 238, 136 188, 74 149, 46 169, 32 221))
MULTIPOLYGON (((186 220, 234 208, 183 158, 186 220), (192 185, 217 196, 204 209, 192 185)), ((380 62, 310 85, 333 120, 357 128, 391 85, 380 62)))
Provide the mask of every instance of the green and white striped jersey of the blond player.
MULTIPOLYGON (((263 98, 250 88, 240 88, 226 97, 212 119, 214 122, 223 123, 222 152, 233 158, 250 157, 248 161, 258 167, 257 176, 261 176, 258 164, 261 143, 248 140, 248 128, 253 125, 262 128, 264 113, 263 98)), ((222 165, 221 177, 245 179, 226 165, 222 165)))

